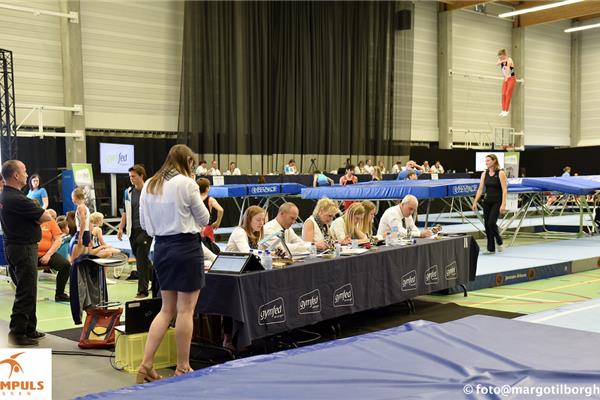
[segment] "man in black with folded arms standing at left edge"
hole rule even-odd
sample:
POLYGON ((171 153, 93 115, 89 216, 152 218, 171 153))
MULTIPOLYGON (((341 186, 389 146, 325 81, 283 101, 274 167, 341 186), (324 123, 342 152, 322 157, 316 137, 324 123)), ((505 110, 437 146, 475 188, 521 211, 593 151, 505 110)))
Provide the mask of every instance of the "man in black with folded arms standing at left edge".
POLYGON ((40 224, 51 216, 21 189, 27 185, 25 164, 8 160, 2 164, 4 190, 0 195, 0 222, 10 278, 16 285, 8 340, 19 346, 35 346, 45 335, 37 331, 37 243, 40 224))

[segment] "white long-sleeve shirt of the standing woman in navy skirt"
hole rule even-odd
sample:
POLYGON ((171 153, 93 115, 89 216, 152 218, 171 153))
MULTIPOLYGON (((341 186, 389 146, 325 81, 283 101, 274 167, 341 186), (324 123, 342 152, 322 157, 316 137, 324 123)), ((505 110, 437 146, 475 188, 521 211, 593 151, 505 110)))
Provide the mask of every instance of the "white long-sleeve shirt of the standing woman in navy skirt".
POLYGON ((150 236, 199 233, 209 214, 196 182, 176 175, 163 183, 161 194, 148 193, 148 179, 140 195, 140 225, 150 236))

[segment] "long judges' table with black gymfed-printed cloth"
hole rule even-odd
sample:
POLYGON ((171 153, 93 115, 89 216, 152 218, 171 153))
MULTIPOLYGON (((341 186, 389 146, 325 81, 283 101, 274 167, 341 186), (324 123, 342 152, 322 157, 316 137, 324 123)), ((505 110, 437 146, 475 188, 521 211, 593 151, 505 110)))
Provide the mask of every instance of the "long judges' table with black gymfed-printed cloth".
POLYGON ((238 347, 346 314, 384 307, 475 279, 470 236, 419 239, 361 255, 307 259, 241 275, 207 273, 197 311, 233 319, 238 347))

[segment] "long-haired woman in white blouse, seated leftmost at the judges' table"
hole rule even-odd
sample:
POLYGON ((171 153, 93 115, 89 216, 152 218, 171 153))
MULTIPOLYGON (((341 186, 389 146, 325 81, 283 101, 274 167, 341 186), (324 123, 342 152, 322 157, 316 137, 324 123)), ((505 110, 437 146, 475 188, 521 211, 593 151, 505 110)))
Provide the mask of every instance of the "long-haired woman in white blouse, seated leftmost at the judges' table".
POLYGON ((263 238, 263 226, 267 213, 259 206, 250 206, 244 212, 242 223, 229 236, 225 251, 248 253, 250 249, 258 249, 258 242, 263 238))

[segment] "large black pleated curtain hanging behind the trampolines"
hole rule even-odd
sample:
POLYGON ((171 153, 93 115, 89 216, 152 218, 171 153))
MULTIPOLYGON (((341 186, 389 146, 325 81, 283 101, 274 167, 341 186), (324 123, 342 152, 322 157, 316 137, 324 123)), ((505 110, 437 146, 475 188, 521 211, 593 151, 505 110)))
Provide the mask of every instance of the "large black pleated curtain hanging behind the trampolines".
POLYGON ((394 2, 186 2, 179 142, 200 154, 398 154, 385 121, 394 13, 394 2))

